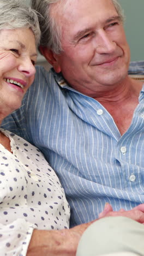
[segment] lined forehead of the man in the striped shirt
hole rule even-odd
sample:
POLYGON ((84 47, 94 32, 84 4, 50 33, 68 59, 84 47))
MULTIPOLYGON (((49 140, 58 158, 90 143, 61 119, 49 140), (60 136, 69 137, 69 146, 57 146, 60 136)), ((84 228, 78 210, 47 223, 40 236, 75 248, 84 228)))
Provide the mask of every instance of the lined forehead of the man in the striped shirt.
POLYGON ((51 18, 58 27, 62 27, 62 24, 65 27, 80 16, 85 19, 93 12, 94 19, 97 19, 99 13, 103 16, 103 13, 111 13, 111 11, 116 15, 117 10, 112 0, 58 0, 51 5, 51 18))

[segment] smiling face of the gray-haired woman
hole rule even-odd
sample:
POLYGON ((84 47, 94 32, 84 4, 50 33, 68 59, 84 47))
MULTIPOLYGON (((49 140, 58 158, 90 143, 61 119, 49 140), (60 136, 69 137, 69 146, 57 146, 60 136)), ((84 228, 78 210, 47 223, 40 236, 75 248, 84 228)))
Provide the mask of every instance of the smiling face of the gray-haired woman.
POLYGON ((33 83, 37 50, 29 28, 0 31, 0 113, 21 106, 23 95, 33 83))

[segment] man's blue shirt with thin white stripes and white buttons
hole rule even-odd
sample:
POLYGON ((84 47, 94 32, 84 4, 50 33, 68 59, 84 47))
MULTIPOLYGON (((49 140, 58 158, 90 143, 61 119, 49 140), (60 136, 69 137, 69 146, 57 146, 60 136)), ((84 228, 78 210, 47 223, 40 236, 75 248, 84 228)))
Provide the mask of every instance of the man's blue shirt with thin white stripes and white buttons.
MULTIPOLYGON (((144 63, 129 73, 143 74, 144 63)), ((127 111, 127 109, 125 109, 127 111)), ((144 203, 144 94, 123 136, 96 100, 70 88, 53 69, 37 67, 22 106, 4 121, 7 130, 37 146, 56 171, 71 207, 70 226, 144 203)))

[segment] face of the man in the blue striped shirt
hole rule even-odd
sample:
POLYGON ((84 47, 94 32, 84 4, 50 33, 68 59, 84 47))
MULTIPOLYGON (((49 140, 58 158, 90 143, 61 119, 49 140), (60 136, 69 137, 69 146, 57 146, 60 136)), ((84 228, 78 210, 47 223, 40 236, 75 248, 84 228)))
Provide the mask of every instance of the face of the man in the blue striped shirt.
POLYGON ((63 48, 56 55, 56 72, 71 87, 92 96, 101 86, 122 82, 130 52, 111 0, 71 0, 55 19, 62 28, 63 48))

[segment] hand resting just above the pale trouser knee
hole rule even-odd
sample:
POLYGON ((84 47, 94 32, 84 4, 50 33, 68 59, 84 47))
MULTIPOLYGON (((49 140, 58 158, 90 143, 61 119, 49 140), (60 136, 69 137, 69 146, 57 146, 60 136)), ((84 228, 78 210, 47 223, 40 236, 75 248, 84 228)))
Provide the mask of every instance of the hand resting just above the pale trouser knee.
POLYGON ((138 205, 129 211, 125 211, 123 209, 119 211, 113 211, 112 206, 109 203, 106 203, 104 211, 99 214, 99 219, 109 216, 123 216, 133 219, 136 222, 144 223, 144 204, 138 205))

